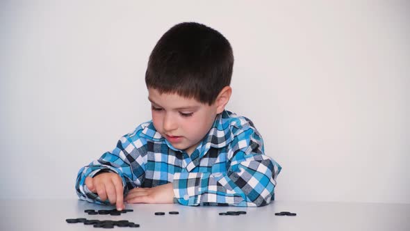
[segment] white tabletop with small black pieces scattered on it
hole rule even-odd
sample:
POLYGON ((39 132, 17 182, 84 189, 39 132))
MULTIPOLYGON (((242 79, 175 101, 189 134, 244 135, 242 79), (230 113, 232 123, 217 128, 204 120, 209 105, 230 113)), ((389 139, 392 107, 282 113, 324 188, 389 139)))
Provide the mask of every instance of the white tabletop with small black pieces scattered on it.
POLYGON ((69 224, 66 218, 129 220, 140 228, 114 230, 410 230, 409 204, 354 202, 274 201, 265 207, 188 207, 169 205, 126 205, 133 212, 88 215, 85 209, 113 209, 81 200, 0 200, 0 230, 99 230, 82 223, 69 224), (179 214, 168 214, 177 211, 179 214), (245 211, 240 216, 220 212, 245 211), (275 216, 276 212, 297 216, 275 216), (165 212, 156 216, 155 212, 165 212))

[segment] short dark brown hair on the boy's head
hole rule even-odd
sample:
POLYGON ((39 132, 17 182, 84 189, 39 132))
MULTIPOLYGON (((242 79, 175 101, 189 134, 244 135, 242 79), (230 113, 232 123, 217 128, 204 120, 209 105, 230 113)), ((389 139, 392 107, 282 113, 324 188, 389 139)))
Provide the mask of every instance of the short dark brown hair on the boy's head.
POLYGON ((233 51, 224 36, 208 26, 183 22, 172 26, 151 52, 147 88, 177 93, 209 105, 231 83, 233 51))

